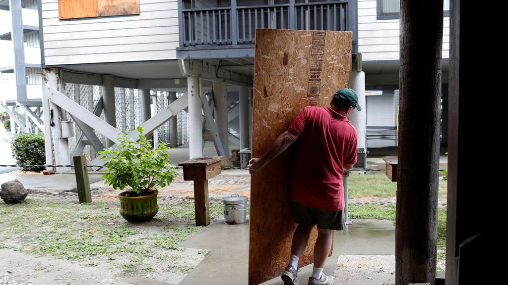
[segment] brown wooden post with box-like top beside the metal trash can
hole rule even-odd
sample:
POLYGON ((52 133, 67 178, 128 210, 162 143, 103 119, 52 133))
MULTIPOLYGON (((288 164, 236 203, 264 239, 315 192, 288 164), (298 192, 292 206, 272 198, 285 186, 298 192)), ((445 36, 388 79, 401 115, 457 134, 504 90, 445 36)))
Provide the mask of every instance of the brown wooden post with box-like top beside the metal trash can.
POLYGON ((220 174, 220 157, 195 157, 178 165, 183 166, 183 180, 194 181, 196 226, 207 226, 210 224, 208 179, 220 174))

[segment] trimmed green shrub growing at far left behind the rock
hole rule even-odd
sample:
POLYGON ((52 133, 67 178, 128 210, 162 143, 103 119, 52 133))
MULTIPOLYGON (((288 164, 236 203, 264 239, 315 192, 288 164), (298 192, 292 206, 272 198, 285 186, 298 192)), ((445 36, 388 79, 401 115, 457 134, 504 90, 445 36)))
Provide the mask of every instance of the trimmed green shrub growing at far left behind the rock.
MULTIPOLYGON (((45 164, 44 134, 19 134, 11 141, 11 150, 17 164, 45 164)), ((25 166, 25 171, 41 171, 42 166, 25 166)))

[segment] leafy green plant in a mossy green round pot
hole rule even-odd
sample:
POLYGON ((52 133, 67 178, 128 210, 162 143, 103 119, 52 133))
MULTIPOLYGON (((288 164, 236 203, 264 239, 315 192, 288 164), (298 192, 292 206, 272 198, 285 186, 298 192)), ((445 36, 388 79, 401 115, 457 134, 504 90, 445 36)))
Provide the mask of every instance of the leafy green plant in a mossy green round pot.
POLYGON ((157 211, 157 189, 171 184, 179 172, 169 163, 170 147, 164 142, 157 149, 143 135, 138 126, 139 141, 134 141, 127 132, 118 138, 118 148, 100 151, 106 161, 106 183, 113 189, 127 191, 118 195, 120 215, 129 222, 144 222, 152 219, 157 211))

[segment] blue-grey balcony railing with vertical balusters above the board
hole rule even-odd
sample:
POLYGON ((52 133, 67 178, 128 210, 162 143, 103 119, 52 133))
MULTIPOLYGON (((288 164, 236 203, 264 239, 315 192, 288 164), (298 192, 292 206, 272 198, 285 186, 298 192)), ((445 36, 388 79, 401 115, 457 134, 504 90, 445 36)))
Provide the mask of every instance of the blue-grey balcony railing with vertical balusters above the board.
MULTIPOLYGON (((179 7, 183 7, 181 0, 179 7)), ((348 1, 180 9, 180 47, 253 44, 256 28, 349 30, 348 1)))

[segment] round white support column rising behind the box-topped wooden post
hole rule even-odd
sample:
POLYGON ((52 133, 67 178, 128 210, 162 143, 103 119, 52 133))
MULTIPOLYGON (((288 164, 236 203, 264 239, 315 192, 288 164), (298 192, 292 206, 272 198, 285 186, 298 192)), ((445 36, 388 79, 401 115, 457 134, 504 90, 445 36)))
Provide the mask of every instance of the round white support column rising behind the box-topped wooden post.
POLYGON ((203 117, 201 116, 200 82, 197 76, 187 77, 189 158, 203 156, 203 117))

